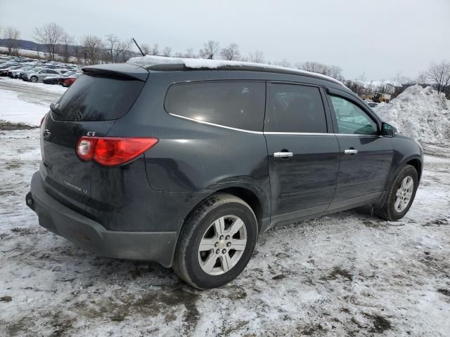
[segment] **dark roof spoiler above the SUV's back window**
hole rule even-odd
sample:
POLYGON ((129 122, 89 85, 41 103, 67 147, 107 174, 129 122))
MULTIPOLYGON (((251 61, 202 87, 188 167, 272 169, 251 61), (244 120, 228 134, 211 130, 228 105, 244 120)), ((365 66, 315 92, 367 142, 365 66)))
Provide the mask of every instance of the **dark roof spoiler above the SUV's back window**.
POLYGON ((89 65, 82 67, 84 74, 116 77, 120 79, 137 79, 145 82, 148 78, 148 70, 139 65, 129 63, 110 63, 106 65, 89 65))

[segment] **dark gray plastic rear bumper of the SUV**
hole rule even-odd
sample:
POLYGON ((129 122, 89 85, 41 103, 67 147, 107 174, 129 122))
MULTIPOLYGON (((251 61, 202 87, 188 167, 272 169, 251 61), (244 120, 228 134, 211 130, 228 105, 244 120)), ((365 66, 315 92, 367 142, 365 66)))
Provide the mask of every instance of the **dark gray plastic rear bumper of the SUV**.
POLYGON ((77 246, 110 258, 151 260, 172 266, 176 232, 120 232, 106 230, 94 220, 69 209, 51 197, 42 186, 41 175, 34 173, 27 206, 39 216, 39 225, 65 237, 77 246))

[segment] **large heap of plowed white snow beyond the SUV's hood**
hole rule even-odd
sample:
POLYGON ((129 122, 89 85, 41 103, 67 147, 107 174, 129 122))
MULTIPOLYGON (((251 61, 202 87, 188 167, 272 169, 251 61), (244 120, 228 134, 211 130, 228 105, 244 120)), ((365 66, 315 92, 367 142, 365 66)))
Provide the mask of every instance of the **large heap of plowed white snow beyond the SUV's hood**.
POLYGON ((430 86, 410 86, 375 112, 400 133, 420 143, 450 142, 450 100, 430 86))

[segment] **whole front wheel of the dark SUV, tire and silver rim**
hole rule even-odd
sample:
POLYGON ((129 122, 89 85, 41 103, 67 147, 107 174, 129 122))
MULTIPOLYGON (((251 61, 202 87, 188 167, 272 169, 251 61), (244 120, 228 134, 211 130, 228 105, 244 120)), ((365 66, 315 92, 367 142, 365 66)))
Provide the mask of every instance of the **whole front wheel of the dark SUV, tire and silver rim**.
POLYGON ((385 204, 378 210, 378 215, 386 220, 399 220, 409 211, 418 187, 416 169, 406 164, 392 181, 387 190, 385 204))

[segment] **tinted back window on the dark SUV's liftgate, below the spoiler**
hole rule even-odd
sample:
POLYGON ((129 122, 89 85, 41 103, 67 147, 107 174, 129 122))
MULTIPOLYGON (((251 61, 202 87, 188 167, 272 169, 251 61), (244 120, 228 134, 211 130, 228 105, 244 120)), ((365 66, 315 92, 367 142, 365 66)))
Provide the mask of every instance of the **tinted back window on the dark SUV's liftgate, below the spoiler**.
POLYGON ((60 98, 58 121, 107 121, 128 112, 144 82, 83 74, 60 98))

